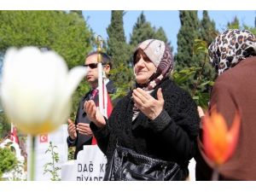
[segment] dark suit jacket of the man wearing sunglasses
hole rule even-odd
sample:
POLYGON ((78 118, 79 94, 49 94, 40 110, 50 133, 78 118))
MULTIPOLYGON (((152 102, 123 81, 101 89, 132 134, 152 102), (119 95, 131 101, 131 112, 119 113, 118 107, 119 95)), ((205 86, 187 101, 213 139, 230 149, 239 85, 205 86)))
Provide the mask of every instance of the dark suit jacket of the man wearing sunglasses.
MULTIPOLYGON (((108 94, 113 94, 116 89, 114 88, 113 81, 109 80, 108 84, 106 85, 108 94)), ((84 112, 84 102, 90 100, 90 91, 82 97, 81 101, 79 102, 79 108, 76 114, 75 125, 79 123, 90 123, 90 120, 87 118, 86 113, 84 112)), ((98 100, 98 96, 96 96, 96 100, 98 100)), ((83 150, 84 145, 90 145, 92 141, 92 137, 85 136, 77 132, 77 139, 73 141, 70 137, 67 137, 67 146, 69 147, 76 147, 74 153, 74 159, 77 159, 77 155, 80 150, 83 150), (71 143, 72 142, 72 143, 71 143)))

